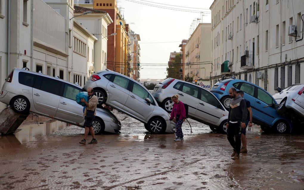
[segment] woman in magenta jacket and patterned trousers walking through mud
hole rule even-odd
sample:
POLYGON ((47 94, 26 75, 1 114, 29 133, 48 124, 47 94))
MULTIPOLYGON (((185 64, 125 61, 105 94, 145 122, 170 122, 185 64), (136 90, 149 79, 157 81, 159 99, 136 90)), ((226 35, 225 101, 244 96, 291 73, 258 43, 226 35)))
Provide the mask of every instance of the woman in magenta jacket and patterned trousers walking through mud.
POLYGON ((176 139, 174 139, 174 141, 184 140, 183 138, 184 135, 181 130, 181 125, 186 119, 185 105, 183 104, 183 102, 178 100, 178 95, 173 95, 171 97, 171 100, 174 102, 174 104, 170 116, 170 121, 174 121, 176 123, 175 134, 177 136, 176 139))

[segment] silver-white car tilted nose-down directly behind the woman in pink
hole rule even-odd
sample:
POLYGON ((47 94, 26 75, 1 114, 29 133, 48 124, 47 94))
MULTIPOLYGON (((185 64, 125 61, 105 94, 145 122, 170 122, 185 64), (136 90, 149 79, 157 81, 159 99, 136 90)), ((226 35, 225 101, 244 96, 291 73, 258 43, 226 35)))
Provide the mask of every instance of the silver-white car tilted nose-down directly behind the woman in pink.
POLYGON ((188 115, 191 119, 209 125, 212 131, 226 133, 228 111, 208 90, 186 81, 167 78, 152 91, 157 103, 167 112, 171 112, 171 97, 176 94, 181 102, 188 105, 188 115))

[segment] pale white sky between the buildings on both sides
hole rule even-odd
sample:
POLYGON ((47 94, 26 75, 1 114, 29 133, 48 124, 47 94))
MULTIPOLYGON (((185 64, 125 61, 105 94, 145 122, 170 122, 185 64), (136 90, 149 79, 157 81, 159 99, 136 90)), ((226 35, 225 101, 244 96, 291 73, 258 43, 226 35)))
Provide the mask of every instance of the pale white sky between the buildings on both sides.
POLYGON ((201 22, 210 23, 211 14, 205 14, 205 16, 201 17, 201 14, 196 12, 162 9, 131 1, 164 7, 172 7, 169 5, 175 5, 175 7, 172 8, 206 11, 210 13, 209 7, 213 0, 118 0, 117 6, 124 8, 121 10, 123 10, 122 14, 124 15, 126 23, 135 23, 129 26, 135 33, 140 35, 140 78, 164 79, 167 74, 166 67, 168 66, 170 52, 180 52, 181 48, 178 46, 181 44, 181 40, 188 40, 190 37, 189 30, 193 20, 201 18, 201 22))

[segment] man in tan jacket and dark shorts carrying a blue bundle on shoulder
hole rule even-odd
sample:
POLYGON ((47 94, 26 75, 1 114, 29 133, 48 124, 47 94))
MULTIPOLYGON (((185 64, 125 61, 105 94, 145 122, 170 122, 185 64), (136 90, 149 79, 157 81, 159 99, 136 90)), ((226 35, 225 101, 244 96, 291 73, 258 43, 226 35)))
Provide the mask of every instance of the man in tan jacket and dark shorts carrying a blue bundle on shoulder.
POLYGON ((81 99, 81 102, 84 102, 85 105, 87 106, 85 108, 85 112, 84 112, 84 115, 85 115, 85 137, 83 138, 83 140, 81 140, 79 143, 80 144, 86 144, 86 139, 88 137, 88 134, 89 134, 89 131, 93 137, 93 139, 91 140, 91 142, 89 142, 89 144, 93 144, 93 143, 97 143, 97 140, 95 139, 95 133, 94 133, 94 128, 93 128, 93 125, 92 125, 92 122, 94 120, 94 117, 96 115, 96 106, 97 106, 97 97, 94 95, 94 90, 93 88, 88 88, 88 96, 89 96, 89 100, 88 102, 85 101, 84 98, 81 99), (88 112, 91 112, 91 113, 94 113, 94 114, 91 114, 93 116, 87 116, 87 113, 88 112))

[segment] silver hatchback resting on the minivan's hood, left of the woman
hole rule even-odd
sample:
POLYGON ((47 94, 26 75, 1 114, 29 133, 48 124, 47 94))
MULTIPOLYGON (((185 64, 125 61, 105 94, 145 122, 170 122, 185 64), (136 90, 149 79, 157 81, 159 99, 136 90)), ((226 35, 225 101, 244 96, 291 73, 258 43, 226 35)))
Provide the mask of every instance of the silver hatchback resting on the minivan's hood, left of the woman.
POLYGON ((174 133, 175 123, 139 82, 108 69, 90 76, 84 88, 93 88, 98 104, 105 103, 144 123, 151 133, 174 133))

